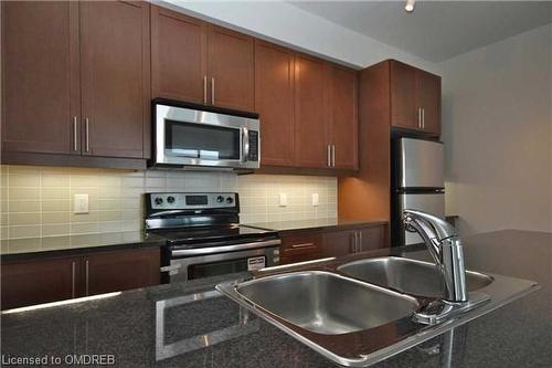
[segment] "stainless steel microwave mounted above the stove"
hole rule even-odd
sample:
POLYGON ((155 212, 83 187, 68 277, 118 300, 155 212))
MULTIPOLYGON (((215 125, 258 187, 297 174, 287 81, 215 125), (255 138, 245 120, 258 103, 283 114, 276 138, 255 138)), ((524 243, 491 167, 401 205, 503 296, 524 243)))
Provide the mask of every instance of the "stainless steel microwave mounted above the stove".
POLYGON ((153 166, 257 169, 258 115, 153 99, 153 166))

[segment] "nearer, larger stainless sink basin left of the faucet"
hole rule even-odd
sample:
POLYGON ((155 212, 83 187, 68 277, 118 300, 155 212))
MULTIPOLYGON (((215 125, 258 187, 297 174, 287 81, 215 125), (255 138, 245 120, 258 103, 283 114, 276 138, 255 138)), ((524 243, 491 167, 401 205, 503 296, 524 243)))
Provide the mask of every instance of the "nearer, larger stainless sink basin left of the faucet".
POLYGON ((374 328, 418 309, 413 297, 323 271, 257 278, 235 291, 273 315, 323 335, 374 328))

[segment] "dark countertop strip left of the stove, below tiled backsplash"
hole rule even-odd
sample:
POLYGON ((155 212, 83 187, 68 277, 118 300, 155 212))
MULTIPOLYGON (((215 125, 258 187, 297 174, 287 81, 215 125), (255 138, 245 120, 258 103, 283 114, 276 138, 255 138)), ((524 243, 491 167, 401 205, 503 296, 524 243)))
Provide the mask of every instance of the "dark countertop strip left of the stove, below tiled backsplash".
MULTIPOLYGON (((146 234, 144 231, 109 232, 103 234, 87 234, 86 236, 86 242, 82 242, 82 235, 55 236, 59 239, 56 245, 50 245, 47 248, 39 246, 24 250, 10 250, 8 246, 8 250, 3 251, 1 254, 1 261, 11 262, 40 256, 61 256, 95 251, 104 252, 130 248, 162 246, 167 243, 164 239, 156 234, 146 234)), ((9 242, 9 240, 4 241, 9 242)))

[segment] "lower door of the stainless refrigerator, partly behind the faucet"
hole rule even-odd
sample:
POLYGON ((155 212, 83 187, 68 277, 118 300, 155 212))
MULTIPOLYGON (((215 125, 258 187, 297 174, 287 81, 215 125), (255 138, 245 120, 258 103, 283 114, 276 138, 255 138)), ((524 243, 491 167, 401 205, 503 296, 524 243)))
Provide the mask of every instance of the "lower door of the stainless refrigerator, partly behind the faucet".
MULTIPOLYGON (((399 194, 400 212, 404 209, 418 210, 435 214, 445 220, 445 193, 414 193, 399 194)), ((422 238, 414 232, 404 232, 404 244, 422 243, 422 238)))

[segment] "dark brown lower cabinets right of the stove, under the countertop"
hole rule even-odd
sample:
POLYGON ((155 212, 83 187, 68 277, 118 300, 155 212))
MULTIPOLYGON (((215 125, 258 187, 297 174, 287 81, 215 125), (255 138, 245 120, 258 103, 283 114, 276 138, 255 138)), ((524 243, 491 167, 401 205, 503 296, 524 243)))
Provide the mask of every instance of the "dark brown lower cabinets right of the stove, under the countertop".
POLYGON ((343 256, 389 246, 388 225, 282 233, 280 264, 343 256))

